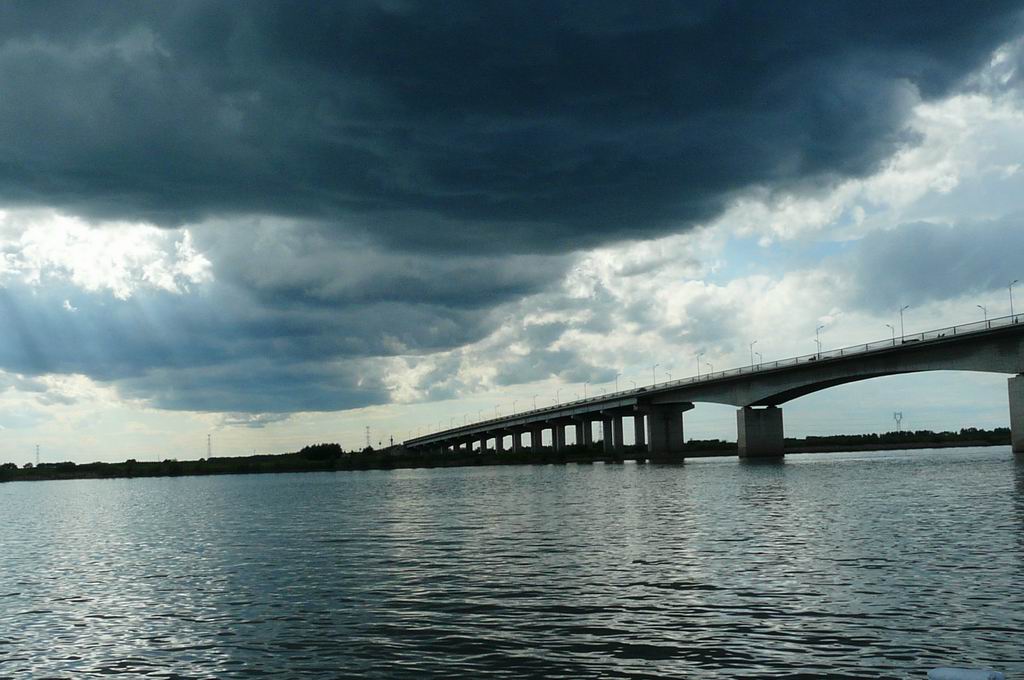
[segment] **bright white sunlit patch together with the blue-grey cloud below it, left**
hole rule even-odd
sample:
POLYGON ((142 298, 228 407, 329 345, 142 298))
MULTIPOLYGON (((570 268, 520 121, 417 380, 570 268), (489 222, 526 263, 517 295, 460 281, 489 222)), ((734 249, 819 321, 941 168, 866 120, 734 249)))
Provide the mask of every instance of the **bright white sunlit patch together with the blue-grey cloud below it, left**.
POLYGON ((496 327, 496 305, 552 285, 570 262, 420 259, 276 220, 189 231, 15 212, 3 225, 0 367, 81 374, 174 410, 382 403, 386 369, 370 359, 475 342, 496 327))

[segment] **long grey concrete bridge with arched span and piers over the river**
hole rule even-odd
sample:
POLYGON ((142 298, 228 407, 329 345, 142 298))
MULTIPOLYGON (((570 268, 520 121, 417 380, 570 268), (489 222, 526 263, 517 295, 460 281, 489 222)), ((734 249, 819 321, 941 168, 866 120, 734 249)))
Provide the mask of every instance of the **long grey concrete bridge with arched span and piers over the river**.
POLYGON ((566 447, 566 428, 575 440, 594 443, 593 423, 600 422, 602 445, 609 455, 625 450, 626 419, 632 420, 636 444, 653 455, 681 454, 683 414, 695 402, 737 407, 736 430, 740 457, 778 457, 784 454, 780 406, 818 390, 882 376, 923 371, 982 371, 1011 374, 1010 429, 1013 449, 1024 453, 1024 314, 928 331, 891 340, 765 362, 699 377, 622 390, 544 409, 441 430, 404 441, 408 449, 479 451, 495 439, 504 450, 523 450, 522 435, 539 449, 545 430, 552 445, 566 447))

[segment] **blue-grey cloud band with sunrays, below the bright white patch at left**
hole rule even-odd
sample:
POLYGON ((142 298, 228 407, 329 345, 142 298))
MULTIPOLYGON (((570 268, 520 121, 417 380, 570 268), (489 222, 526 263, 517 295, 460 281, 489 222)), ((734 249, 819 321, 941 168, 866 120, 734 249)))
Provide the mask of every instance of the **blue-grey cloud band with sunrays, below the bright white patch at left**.
POLYGON ((127 300, 51 282, 0 288, 0 366, 82 374, 162 409, 278 414, 388 400, 381 356, 450 349, 492 329, 485 309, 371 300, 341 307, 257 299, 230 284, 127 300), (75 311, 63 306, 74 299, 75 311))

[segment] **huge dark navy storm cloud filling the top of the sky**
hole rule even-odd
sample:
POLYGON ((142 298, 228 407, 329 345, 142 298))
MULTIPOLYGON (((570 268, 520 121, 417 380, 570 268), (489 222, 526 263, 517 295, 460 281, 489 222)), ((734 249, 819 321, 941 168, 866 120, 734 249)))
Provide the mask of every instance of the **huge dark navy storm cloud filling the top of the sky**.
POLYGON ((5 3, 0 201, 438 252, 646 237, 871 171, 1018 5, 5 3))

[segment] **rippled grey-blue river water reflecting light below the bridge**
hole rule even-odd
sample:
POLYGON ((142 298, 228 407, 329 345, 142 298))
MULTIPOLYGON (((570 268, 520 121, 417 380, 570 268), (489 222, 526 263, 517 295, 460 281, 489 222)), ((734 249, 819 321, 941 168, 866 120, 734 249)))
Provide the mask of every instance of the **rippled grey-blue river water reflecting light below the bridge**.
POLYGON ((1024 674, 1008 449, 19 482, 0 510, 5 678, 1024 674))

